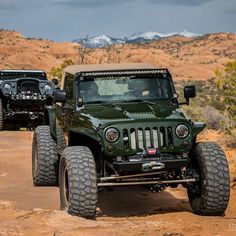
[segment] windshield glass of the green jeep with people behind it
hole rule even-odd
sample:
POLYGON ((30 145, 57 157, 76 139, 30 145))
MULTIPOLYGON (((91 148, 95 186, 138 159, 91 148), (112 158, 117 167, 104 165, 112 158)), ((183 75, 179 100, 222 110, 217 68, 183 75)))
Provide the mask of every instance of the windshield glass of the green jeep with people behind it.
POLYGON ((170 80, 160 75, 81 79, 77 86, 78 96, 83 97, 84 103, 173 98, 170 80))

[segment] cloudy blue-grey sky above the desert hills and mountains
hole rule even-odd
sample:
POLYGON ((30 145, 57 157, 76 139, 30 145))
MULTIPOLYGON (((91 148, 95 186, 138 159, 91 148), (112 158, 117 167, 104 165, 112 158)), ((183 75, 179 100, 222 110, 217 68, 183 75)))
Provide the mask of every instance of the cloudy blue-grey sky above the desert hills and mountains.
POLYGON ((54 41, 146 31, 236 33, 236 0, 0 0, 0 29, 54 41))

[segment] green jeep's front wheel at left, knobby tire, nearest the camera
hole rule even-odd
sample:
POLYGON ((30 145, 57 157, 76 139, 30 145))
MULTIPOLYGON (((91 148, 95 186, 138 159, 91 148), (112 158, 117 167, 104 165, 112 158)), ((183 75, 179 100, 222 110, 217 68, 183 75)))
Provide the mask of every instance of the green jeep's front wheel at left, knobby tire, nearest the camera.
POLYGON ((88 147, 67 147, 59 166, 61 209, 69 214, 93 219, 97 206, 97 176, 88 147))

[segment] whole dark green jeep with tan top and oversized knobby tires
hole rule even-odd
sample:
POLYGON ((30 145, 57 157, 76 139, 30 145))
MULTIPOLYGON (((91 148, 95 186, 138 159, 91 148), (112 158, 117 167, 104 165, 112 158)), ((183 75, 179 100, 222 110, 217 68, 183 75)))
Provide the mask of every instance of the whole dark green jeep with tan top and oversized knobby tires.
POLYGON ((178 101, 167 69, 66 67, 46 125, 34 132, 34 184, 59 185, 61 208, 85 218, 95 217, 104 188, 142 185, 160 192, 179 184, 194 213, 222 215, 230 196, 227 159, 216 143, 196 142, 205 124, 179 109, 195 97, 195 87, 186 86, 184 97, 178 101))

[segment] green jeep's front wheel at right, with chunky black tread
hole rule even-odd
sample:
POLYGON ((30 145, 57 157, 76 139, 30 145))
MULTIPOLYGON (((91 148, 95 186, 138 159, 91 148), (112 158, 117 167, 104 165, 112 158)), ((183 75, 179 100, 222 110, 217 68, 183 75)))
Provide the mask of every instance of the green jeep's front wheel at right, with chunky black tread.
POLYGON ((188 186, 193 212, 222 215, 230 197, 229 168, 224 151, 216 143, 198 143, 193 151, 192 167, 199 175, 199 180, 188 186))

